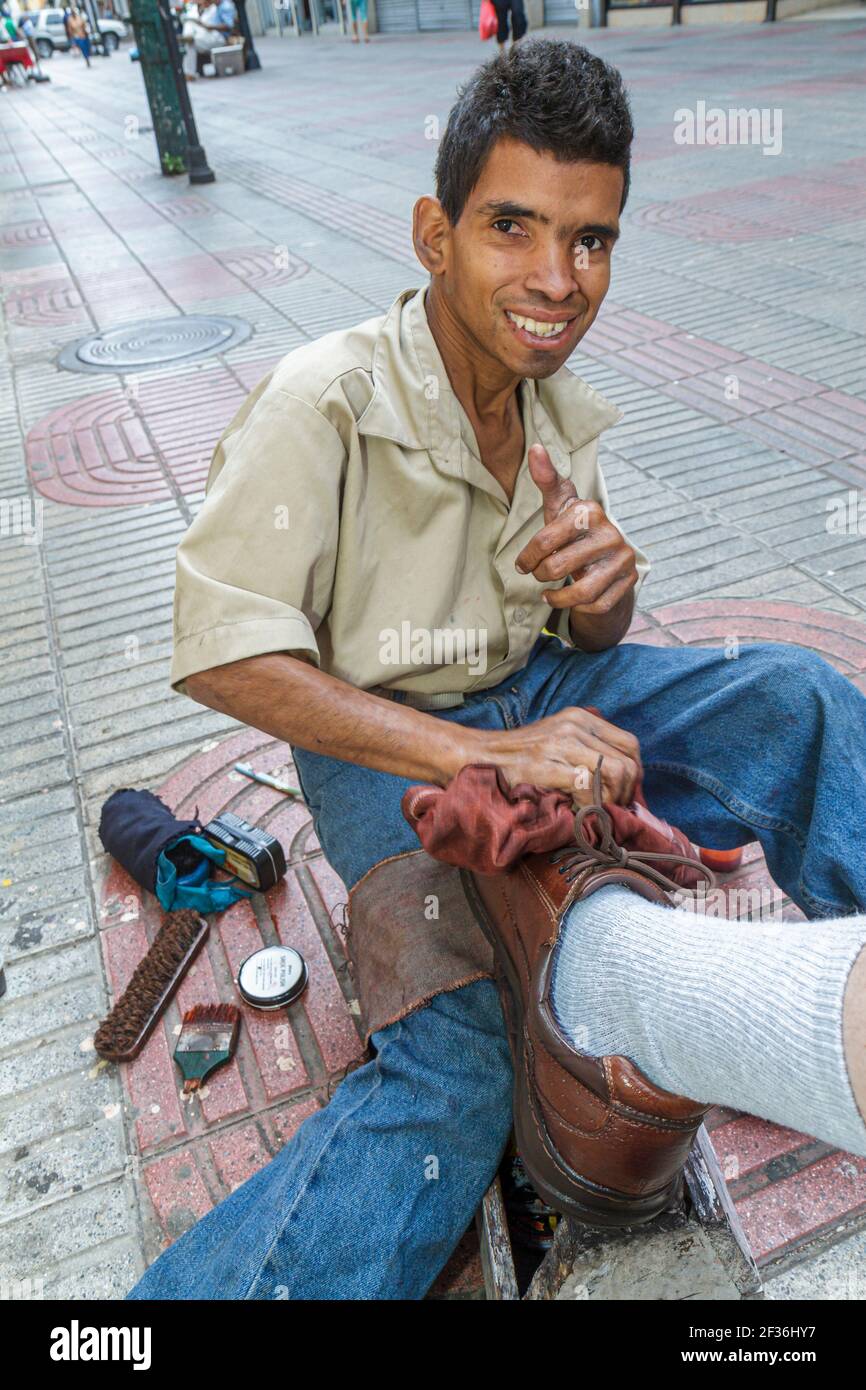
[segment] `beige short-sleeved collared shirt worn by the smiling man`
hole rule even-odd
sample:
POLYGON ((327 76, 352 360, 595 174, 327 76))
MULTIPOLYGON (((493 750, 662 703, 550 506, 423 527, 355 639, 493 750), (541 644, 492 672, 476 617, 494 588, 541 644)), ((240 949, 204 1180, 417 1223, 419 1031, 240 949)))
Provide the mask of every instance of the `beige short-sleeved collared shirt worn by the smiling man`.
MULTIPOLYGON (((610 516, 598 436, 623 413, 564 367, 520 396, 527 449, 610 516)), ((405 291, 284 357, 217 443, 178 549, 171 682, 291 652, 361 689, 496 685, 549 619, 567 638, 552 585, 514 569, 542 524, 525 453, 510 505, 481 463, 424 292, 405 291)))

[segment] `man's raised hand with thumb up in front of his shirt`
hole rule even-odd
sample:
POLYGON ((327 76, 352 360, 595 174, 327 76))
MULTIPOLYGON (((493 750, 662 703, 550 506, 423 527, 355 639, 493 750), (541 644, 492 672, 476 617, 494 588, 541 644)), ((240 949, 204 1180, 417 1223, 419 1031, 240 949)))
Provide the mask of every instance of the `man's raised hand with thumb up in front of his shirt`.
POLYGON ((577 646, 603 651, 626 635, 638 581, 635 555, 598 502, 577 495, 560 478, 544 445, 532 445, 530 473, 544 499, 545 524, 523 548, 516 567, 541 584, 571 578, 542 598, 553 609, 569 609, 577 646))

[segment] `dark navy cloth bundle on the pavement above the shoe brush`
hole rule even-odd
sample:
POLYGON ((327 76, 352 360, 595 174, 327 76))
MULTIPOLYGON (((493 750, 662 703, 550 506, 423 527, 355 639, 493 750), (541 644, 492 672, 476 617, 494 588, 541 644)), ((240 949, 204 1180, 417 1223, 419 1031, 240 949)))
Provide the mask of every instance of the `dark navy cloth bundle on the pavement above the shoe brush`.
MULTIPOLYGON (((178 820, 152 791, 129 787, 108 796, 99 821, 103 848, 149 892, 156 892, 157 860, 163 851, 170 849, 179 835, 200 833, 200 821, 178 820)), ((171 858, 178 873, 186 873, 196 866, 200 855, 192 845, 178 845, 171 858)))

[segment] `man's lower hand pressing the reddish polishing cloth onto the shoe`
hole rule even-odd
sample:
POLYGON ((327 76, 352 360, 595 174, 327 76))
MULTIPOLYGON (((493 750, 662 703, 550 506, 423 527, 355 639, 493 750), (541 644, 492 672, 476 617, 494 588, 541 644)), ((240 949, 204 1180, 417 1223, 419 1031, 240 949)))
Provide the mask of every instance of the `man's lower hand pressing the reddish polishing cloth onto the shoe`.
POLYGON ((605 801, 627 806, 641 776, 641 749, 634 734, 609 724, 588 709, 563 709, 535 724, 480 734, 477 762, 502 767, 509 784, 534 783, 567 791, 580 806, 592 803, 592 773, 603 755, 605 801))

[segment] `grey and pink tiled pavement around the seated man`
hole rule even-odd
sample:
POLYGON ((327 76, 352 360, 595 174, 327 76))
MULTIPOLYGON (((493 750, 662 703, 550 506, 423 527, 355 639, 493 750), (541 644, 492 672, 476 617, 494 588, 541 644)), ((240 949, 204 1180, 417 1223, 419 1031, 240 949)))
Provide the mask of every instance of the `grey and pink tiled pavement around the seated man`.
MULTIPOLYGON (((573 363, 627 410, 603 464, 655 562, 634 639, 805 642, 866 688, 866 26, 588 42, 623 68, 639 131, 610 300, 573 363), (696 100, 780 107, 783 153, 674 145, 673 113, 696 100), (838 499, 855 509, 841 534, 838 499)), ((303 813, 231 770, 240 753, 274 770, 286 749, 167 689, 174 548, 217 435, 270 364, 421 282, 409 218, 430 189, 430 118, 487 50, 455 33, 260 50, 260 74, 193 89, 218 175, 206 188, 156 171, 125 51, 90 71, 58 56, 50 86, 0 99, 0 1279, 42 1276, 46 1295, 121 1295, 360 1048, 342 885, 303 813), (193 313, 253 332, 171 370, 57 366, 95 329, 193 313), (39 545, 14 534, 25 498, 43 509, 39 545), (311 987, 288 1033, 247 1013, 236 1062, 195 1105, 178 1101, 167 1036, 122 1081, 89 1045, 154 920, 96 841, 122 785, 231 805, 291 849, 285 884, 211 930, 179 1004, 229 998, 261 940, 297 944, 311 987)), ((716 1119, 760 1258, 866 1213, 863 1161, 716 1119)), ((453 1287, 473 1277, 464 1261, 453 1287)))

